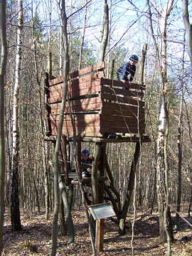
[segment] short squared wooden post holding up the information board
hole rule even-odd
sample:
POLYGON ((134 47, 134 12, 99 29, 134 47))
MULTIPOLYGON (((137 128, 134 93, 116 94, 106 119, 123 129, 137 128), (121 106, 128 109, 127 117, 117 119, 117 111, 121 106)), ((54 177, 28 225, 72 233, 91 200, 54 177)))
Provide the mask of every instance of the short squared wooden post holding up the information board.
POLYGON ((95 247, 97 252, 103 251, 103 237, 104 237, 104 223, 105 219, 102 218, 100 220, 96 220, 96 239, 95 239, 95 247))

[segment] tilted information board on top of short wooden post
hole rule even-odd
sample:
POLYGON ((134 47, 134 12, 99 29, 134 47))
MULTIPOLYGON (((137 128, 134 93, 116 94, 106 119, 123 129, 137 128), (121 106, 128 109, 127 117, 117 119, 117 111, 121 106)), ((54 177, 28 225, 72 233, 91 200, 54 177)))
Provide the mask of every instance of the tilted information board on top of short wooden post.
POLYGON ((116 215, 110 203, 100 203, 97 205, 89 206, 89 209, 94 220, 110 218, 116 215))

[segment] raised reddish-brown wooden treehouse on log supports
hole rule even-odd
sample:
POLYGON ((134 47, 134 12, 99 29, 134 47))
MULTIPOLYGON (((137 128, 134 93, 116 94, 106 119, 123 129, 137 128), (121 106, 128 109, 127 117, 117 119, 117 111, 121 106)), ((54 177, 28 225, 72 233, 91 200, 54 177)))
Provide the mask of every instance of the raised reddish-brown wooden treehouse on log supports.
MULTIPOLYGON (((105 153, 107 143, 134 142, 134 162, 136 162, 140 146, 150 142, 145 135, 145 109, 144 85, 127 85, 122 82, 105 78, 104 63, 78 70, 68 75, 68 97, 65 101, 64 119, 62 127, 61 152, 63 156, 63 176, 65 183, 78 184, 75 172, 70 170, 68 164, 69 154, 67 145, 70 142, 78 144, 78 161, 82 142, 95 143, 95 161, 92 166, 91 178, 82 178, 82 184, 92 186, 96 194, 95 203, 102 203, 107 198, 112 201, 114 210, 118 214, 118 192, 114 188, 114 181, 107 156, 105 153), (98 171, 100 174, 98 175, 98 171), (110 186, 105 181, 110 180, 110 186), (93 182, 94 181, 94 182, 93 182), (98 191, 97 186, 102 188, 98 191), (115 201, 112 192, 117 196, 115 201)), ((63 96, 63 77, 46 81, 46 112, 47 112, 47 140, 54 141, 58 134, 60 107, 63 96)), ((81 166, 81 164, 80 164, 81 166)), ((81 170, 78 170, 81 176, 81 170)), ((134 169, 133 169, 134 171, 134 169)), ((90 201, 87 200, 87 204, 90 201)))

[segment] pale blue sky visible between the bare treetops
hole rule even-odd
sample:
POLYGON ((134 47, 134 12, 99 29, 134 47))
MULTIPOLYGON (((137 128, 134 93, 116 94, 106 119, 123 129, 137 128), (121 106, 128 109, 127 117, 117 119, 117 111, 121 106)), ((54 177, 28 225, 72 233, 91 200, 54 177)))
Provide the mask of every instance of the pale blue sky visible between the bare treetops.
MULTIPOLYGON (((95 55, 97 55, 100 47, 103 0, 90 0, 88 2, 89 4, 87 6, 87 28, 85 41, 89 43, 90 47, 92 47, 92 51, 94 51, 95 55)), ((159 9, 160 2, 162 6, 164 6, 166 4, 166 0, 156 1, 159 9)), ((65 5, 67 15, 69 16, 71 13, 78 11, 78 9, 82 8, 82 4, 84 3, 85 1, 82 0, 66 1, 65 5)), ((142 52, 144 43, 148 43, 149 45, 153 43, 151 37, 149 36, 149 31, 151 29, 149 27, 149 21, 146 16, 146 1, 108 0, 108 5, 110 8, 110 29, 112 31, 110 38, 110 48, 117 46, 126 48, 126 58, 129 58, 129 55, 133 53, 137 53, 139 55, 142 52)), ((51 11, 52 28, 60 27, 60 11, 58 9, 58 1, 33 1, 33 9, 35 9, 35 6, 38 6, 38 12, 46 24, 49 23, 49 13, 51 11)), ((177 9, 174 8, 174 16, 170 17, 170 25, 168 31, 170 33, 168 33, 168 36, 170 39, 174 38, 177 40, 183 40, 182 29, 184 26, 181 14, 181 0, 175 1, 175 6, 177 6, 177 9)), ((69 21, 73 22, 74 28, 77 28, 80 32, 82 32, 84 17, 85 8, 75 13, 69 21)), ((155 23, 157 17, 153 16, 153 18, 155 23)), ((181 46, 177 47, 181 48, 181 46)), ((171 46, 171 50, 175 50, 175 48, 176 44, 173 44, 171 46)))

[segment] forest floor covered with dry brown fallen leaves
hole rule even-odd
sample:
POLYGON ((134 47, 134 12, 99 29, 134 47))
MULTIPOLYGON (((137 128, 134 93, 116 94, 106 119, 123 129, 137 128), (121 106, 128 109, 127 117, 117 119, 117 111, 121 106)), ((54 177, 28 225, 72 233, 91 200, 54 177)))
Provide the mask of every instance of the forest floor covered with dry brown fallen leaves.
MULTIPOLYGON (((187 211, 186 211, 187 213, 187 211)), ((192 218, 182 215, 188 223, 192 218)), ((158 212, 152 215, 138 211, 134 222, 134 236, 132 234, 133 215, 127 216, 127 233, 120 236, 118 225, 105 219, 103 251, 97 255, 166 255, 167 245, 159 243, 158 212), (133 236, 133 240, 132 240, 133 236)), ((58 228, 58 248, 56 255, 90 256, 92 246, 88 233, 88 224, 84 210, 73 210, 75 226, 75 242, 68 244, 68 237, 63 237, 58 228)), ((171 244, 172 256, 192 255, 192 229, 181 218, 181 229, 174 233, 175 241, 171 244)), ((11 231, 10 214, 6 209, 4 221, 4 251, 3 255, 50 255, 52 216, 46 221, 45 211, 39 213, 21 213, 23 230, 11 231)))

